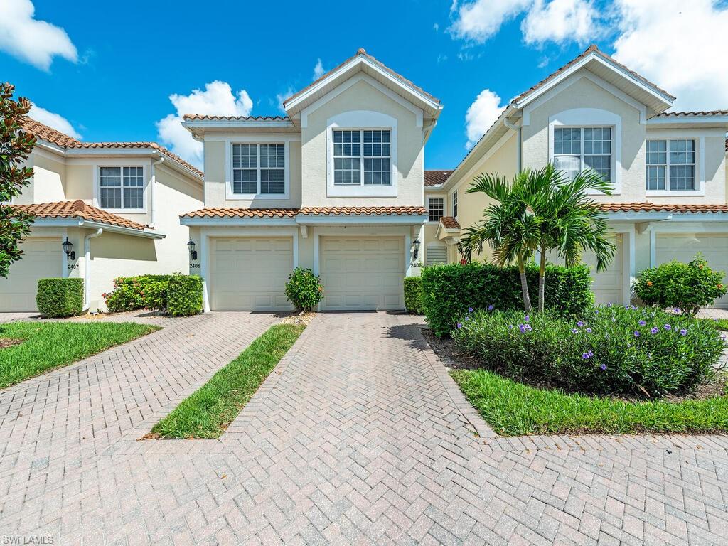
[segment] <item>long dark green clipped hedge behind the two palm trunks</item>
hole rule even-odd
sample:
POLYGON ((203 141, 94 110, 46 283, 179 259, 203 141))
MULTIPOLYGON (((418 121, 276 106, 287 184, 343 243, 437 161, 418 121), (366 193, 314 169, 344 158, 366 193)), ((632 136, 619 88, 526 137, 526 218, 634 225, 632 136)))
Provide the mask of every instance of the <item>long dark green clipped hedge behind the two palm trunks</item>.
MULTIPOLYGON (((527 269, 534 305, 538 298, 538 268, 527 269)), ((518 268, 471 262, 432 266, 422 270, 422 309, 432 331, 446 336, 458 317, 474 309, 523 309, 518 268)), ((582 314, 593 305, 591 275, 587 266, 546 268, 545 306, 563 317, 582 314)))

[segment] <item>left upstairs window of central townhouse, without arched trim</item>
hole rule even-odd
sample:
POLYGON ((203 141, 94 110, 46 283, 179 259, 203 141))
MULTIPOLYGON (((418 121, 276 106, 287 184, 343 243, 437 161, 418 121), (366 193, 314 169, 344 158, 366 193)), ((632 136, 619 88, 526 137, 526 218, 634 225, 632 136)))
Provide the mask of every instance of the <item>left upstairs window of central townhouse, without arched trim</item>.
POLYGON ((231 159, 234 196, 286 193, 284 143, 236 143, 231 159))

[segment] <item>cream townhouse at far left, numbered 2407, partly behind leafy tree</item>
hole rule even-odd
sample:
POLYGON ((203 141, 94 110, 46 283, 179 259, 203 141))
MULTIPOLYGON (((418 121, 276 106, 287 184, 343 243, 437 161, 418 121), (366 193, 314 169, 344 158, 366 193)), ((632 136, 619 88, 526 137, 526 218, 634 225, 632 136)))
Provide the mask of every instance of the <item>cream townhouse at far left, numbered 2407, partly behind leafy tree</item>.
POLYGON ((202 206, 201 171, 153 142, 82 142, 30 118, 23 127, 37 139, 33 178, 12 205, 36 219, 0 279, 0 312, 36 311, 44 277, 82 277, 94 311, 116 277, 189 269, 179 215, 202 206))

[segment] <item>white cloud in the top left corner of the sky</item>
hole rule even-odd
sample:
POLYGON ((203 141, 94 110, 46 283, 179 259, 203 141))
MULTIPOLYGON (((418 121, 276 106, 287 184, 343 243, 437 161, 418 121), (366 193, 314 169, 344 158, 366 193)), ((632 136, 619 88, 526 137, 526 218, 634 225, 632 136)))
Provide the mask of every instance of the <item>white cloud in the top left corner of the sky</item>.
POLYGON ((74 63, 79 54, 63 28, 33 18, 31 0, 1 0, 0 50, 47 71, 55 55, 74 63))

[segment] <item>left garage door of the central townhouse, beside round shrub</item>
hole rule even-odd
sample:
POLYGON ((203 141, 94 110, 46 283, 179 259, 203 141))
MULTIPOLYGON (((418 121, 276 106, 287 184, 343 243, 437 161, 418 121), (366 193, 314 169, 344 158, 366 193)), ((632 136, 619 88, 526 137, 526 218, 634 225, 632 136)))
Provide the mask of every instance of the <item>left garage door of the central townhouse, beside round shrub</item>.
POLYGON ((210 240, 210 309, 284 311, 285 282, 293 270, 291 237, 210 240))

